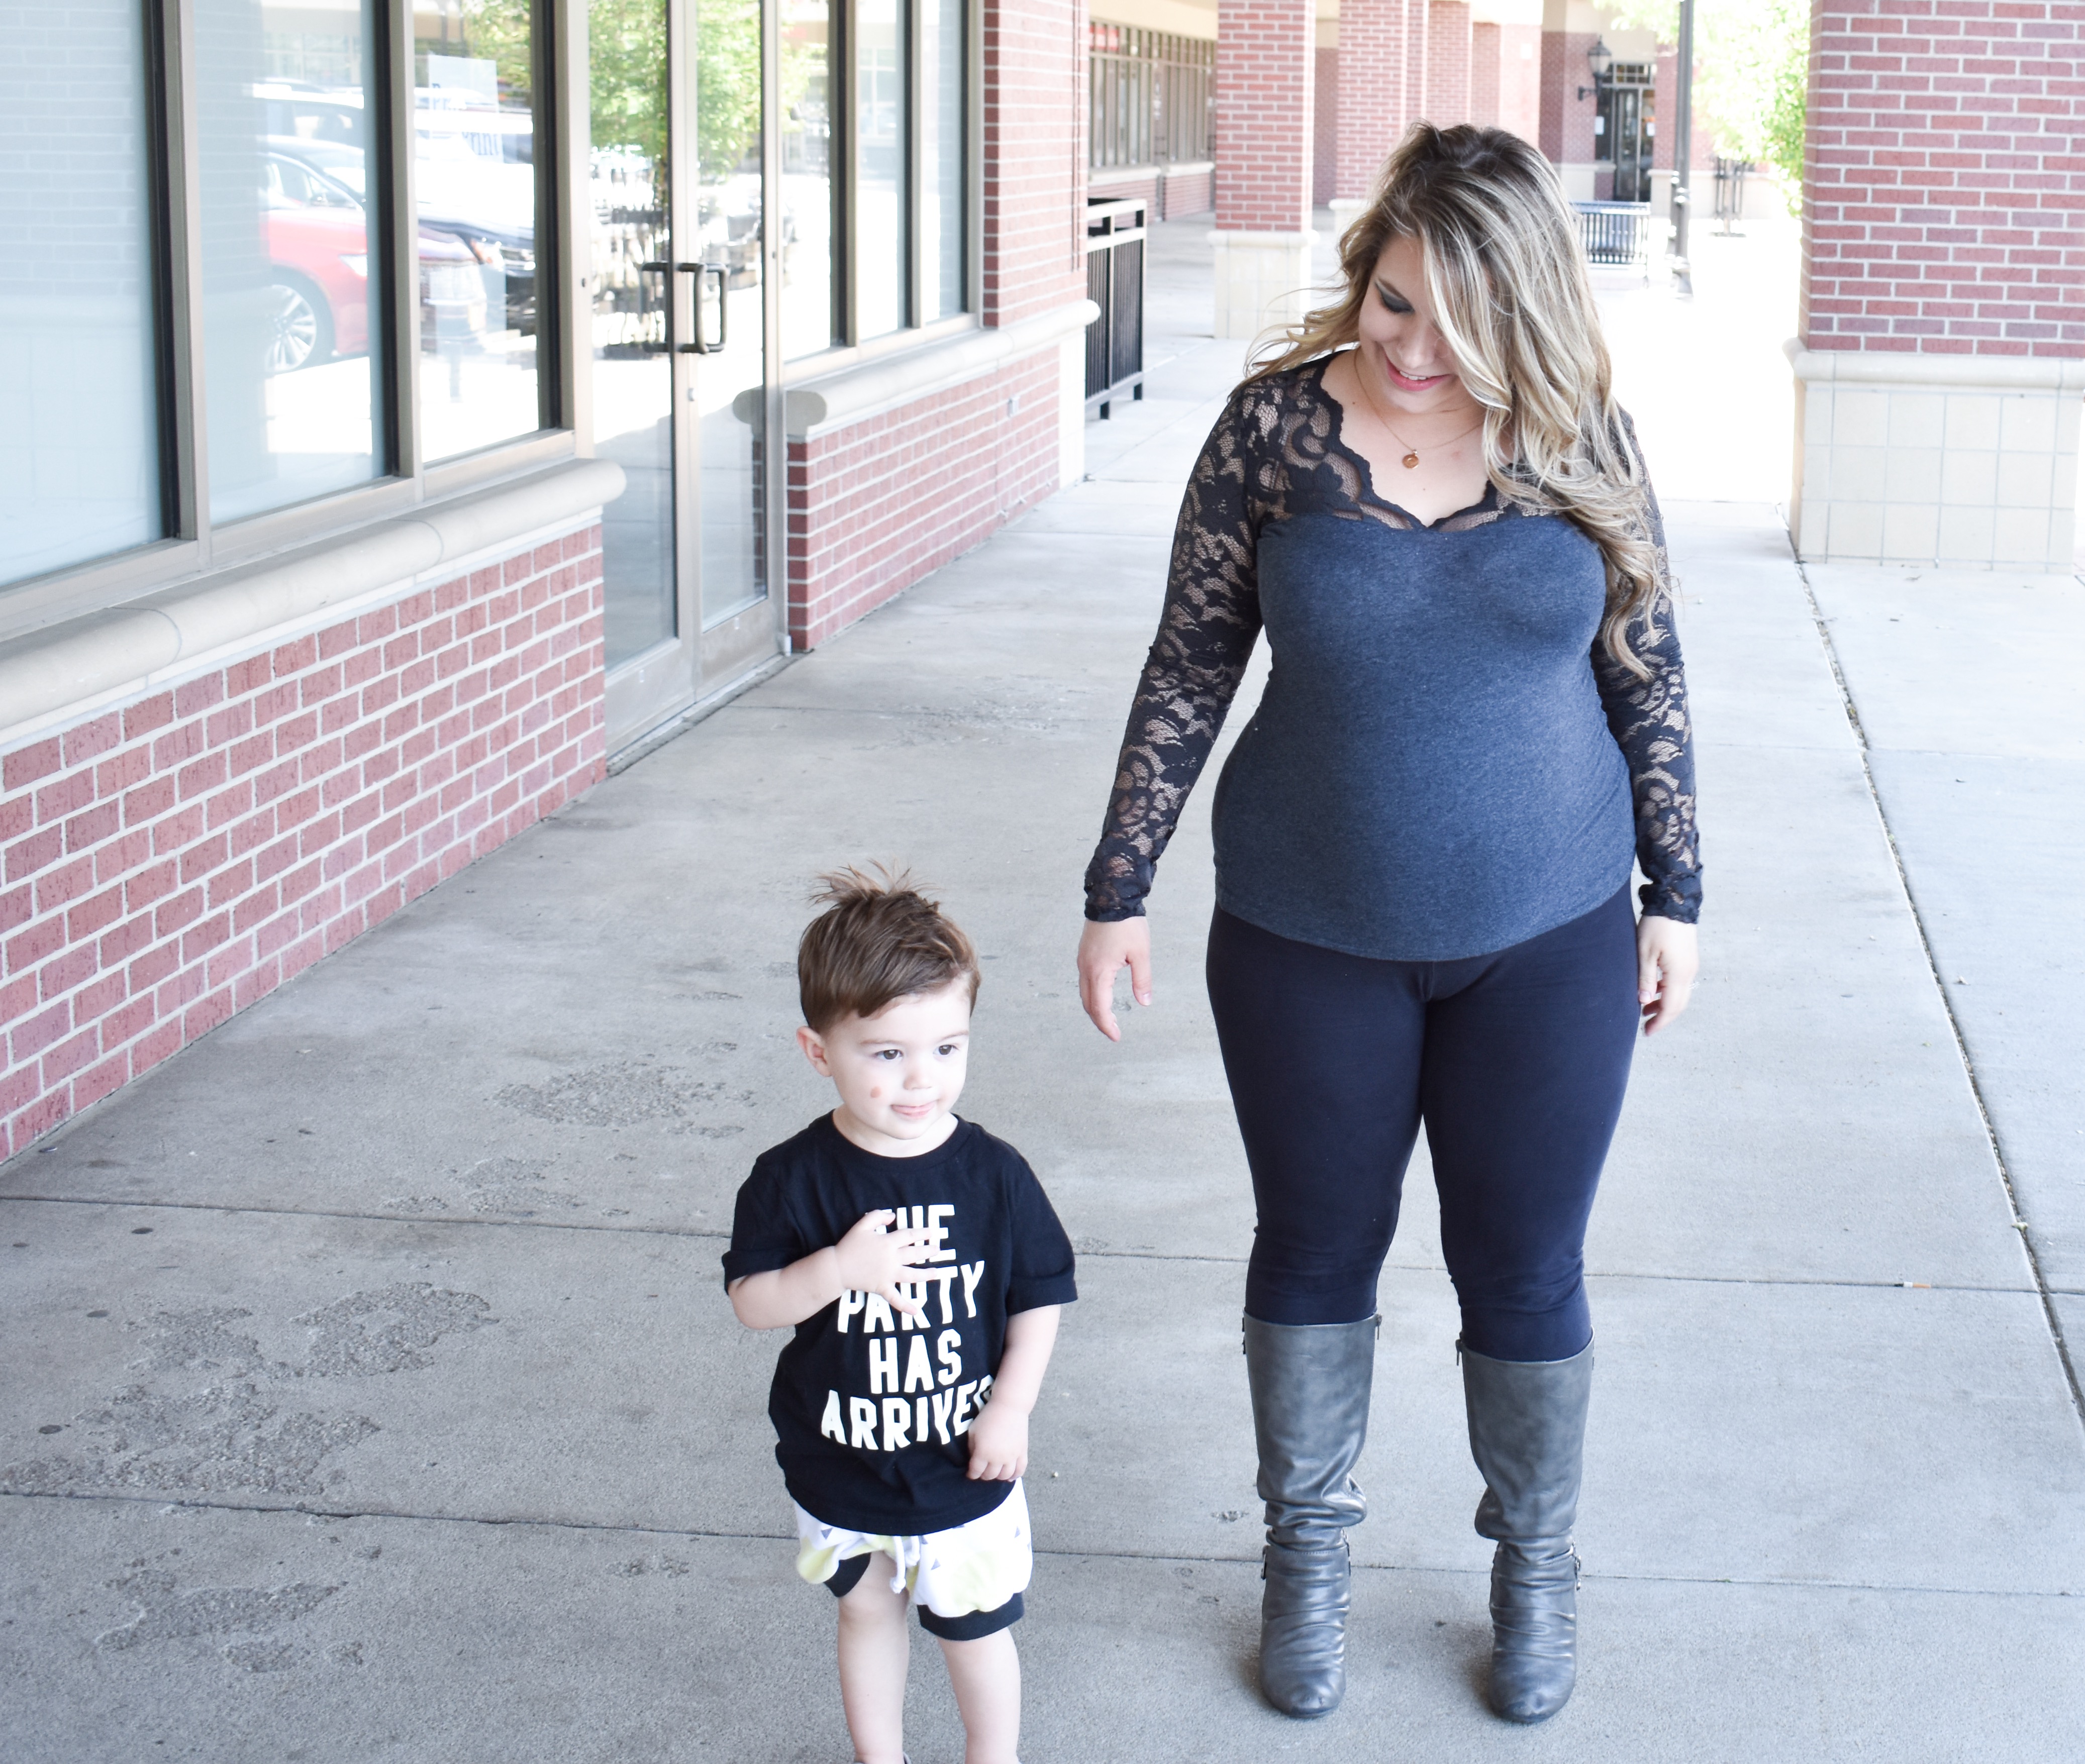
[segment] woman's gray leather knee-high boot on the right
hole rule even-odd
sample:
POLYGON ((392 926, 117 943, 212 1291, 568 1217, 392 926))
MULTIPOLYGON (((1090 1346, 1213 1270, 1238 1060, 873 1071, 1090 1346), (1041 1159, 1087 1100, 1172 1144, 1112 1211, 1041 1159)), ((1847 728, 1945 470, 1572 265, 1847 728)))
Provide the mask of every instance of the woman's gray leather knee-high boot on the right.
POLYGON ((1578 1470, 1593 1349, 1570 1359, 1491 1359, 1462 1349, 1470 1455, 1485 1472, 1478 1537, 1491 1555, 1493 1714, 1549 1720, 1578 1676, 1578 1470))

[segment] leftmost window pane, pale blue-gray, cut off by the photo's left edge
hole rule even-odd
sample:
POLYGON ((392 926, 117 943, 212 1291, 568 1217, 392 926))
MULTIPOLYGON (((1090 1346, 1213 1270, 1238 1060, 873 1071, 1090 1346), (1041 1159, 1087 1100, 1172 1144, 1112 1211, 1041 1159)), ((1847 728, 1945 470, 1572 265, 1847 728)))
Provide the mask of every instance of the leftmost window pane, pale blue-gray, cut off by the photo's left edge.
POLYGON ((0 6, 0 582, 161 536, 144 8, 0 6))

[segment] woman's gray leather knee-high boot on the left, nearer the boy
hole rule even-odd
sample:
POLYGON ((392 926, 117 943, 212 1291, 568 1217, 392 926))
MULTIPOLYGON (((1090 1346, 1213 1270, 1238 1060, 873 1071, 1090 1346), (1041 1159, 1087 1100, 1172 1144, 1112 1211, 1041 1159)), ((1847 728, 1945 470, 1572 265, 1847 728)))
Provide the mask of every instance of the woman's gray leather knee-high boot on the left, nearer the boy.
POLYGON ((1247 1318, 1245 1370, 1268 1503, 1259 1689, 1282 1714, 1322 1716, 1347 1693, 1347 1526, 1368 1514, 1353 1466, 1368 1437, 1376 1318, 1247 1318))

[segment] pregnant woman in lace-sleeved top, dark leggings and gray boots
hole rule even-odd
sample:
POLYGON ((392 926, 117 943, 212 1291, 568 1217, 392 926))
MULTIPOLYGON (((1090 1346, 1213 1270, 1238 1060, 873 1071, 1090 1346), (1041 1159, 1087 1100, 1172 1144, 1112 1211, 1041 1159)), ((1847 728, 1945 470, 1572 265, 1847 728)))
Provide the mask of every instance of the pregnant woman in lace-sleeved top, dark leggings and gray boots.
POLYGON ((1491 1708, 1576 1670, 1585 1228, 1628 1057, 1695 978, 1687 688, 1658 503, 1549 163, 1420 123, 1345 298, 1232 394, 1086 872, 1080 995, 1151 999, 1153 865, 1266 630, 1216 790, 1207 982, 1257 1230, 1259 1683, 1345 1691, 1376 1276, 1420 1124, 1462 1305, 1491 1708), (1643 915, 1628 897, 1641 865, 1643 915))

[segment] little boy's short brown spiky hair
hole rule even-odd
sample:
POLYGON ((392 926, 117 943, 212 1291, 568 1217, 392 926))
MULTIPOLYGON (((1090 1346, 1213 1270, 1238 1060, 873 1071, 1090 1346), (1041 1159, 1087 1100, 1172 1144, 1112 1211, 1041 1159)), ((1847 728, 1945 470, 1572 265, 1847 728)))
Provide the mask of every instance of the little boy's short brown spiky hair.
POLYGON ((817 878, 811 899, 832 903, 796 945, 796 993, 813 1032, 826 1034, 844 1018, 874 1018, 897 999, 936 993, 963 976, 970 1001, 978 1001, 978 953, 913 886, 909 869, 834 869, 817 878))

